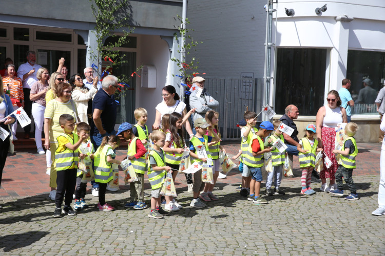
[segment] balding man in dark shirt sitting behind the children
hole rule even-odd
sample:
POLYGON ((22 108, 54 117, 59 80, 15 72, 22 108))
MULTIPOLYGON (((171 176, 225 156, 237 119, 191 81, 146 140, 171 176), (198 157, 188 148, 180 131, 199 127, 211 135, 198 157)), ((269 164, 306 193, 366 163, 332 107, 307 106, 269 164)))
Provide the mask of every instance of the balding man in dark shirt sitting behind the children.
MULTIPOLYGON (((287 154, 295 155, 295 156, 298 156, 297 146, 299 145, 298 143, 299 139, 297 137, 298 135, 297 125, 294 123, 293 120, 297 119, 298 115, 299 115, 298 108, 295 105, 288 105, 286 106, 285 114, 279 119, 282 123, 294 129, 294 132, 292 133, 291 136, 283 133, 283 138, 287 146, 286 148, 287 154)), ((321 182, 321 180, 319 179, 318 173, 314 169, 312 173, 312 182, 313 183, 321 182)))

